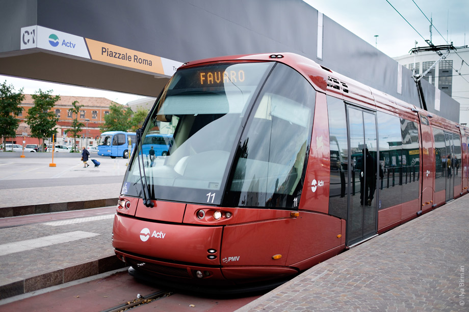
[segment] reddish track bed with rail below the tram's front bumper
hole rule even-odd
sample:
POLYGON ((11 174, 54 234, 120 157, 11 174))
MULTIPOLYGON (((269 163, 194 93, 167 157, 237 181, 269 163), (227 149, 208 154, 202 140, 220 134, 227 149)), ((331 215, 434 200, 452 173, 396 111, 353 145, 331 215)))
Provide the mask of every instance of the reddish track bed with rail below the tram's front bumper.
MULTIPOLYGON (((25 294, 14 300, 2 302, 0 310, 31 311, 69 310, 117 312, 128 310, 181 310, 181 307, 194 311, 223 310, 234 311, 262 294, 233 296, 210 296, 189 290, 179 291, 157 283, 135 279, 126 271, 90 276, 67 285, 51 287, 39 293, 25 294), (140 296, 139 294, 146 294, 140 296), (164 300, 162 300, 164 299, 164 300)), ((13 299, 13 298, 12 298, 13 299)))

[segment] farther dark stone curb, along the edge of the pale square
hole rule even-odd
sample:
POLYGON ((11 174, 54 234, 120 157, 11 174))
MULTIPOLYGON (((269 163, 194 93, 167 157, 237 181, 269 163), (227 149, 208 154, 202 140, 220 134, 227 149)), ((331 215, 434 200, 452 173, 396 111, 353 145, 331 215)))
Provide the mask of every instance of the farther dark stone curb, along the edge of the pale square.
POLYGON ((24 216, 29 214, 59 212, 59 211, 72 211, 99 207, 109 207, 117 205, 118 198, 105 198, 101 200, 91 201, 78 201, 66 203, 51 203, 39 205, 27 205, 16 207, 2 207, 0 208, 0 218, 24 216))

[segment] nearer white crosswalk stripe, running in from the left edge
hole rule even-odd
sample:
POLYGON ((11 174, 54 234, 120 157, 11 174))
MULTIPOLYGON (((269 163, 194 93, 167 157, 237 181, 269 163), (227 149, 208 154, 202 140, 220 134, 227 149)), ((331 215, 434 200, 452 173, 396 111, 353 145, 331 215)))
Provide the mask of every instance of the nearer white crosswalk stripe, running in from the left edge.
POLYGON ((24 241, 8 243, 0 245, 0 256, 14 252, 26 251, 35 248, 56 245, 66 242, 71 242, 83 238, 93 237, 99 235, 98 233, 74 231, 56 235, 50 235, 40 238, 28 239, 24 241))

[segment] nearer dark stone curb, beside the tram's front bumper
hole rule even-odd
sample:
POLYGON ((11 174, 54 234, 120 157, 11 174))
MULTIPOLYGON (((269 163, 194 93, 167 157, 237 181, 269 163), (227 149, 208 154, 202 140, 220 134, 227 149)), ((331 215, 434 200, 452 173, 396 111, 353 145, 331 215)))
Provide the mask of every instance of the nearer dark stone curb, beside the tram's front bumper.
POLYGON ((115 254, 0 285, 0 300, 126 267, 115 254))

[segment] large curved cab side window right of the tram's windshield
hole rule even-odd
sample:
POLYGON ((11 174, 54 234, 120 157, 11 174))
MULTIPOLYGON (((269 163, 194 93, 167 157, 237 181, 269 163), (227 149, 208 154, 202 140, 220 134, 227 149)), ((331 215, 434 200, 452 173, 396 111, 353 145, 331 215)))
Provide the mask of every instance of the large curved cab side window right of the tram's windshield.
POLYGON ((277 64, 242 134, 227 205, 298 208, 315 95, 303 76, 277 64))

